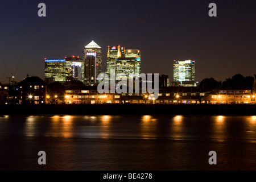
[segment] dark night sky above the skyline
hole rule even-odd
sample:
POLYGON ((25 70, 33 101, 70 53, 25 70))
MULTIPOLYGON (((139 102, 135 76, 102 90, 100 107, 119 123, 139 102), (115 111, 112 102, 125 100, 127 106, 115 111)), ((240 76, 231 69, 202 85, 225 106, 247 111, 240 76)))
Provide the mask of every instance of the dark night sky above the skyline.
POLYGON ((16 80, 27 73, 44 79, 44 58, 83 56, 92 40, 102 47, 141 49, 142 73, 173 80, 174 60, 196 60, 196 80, 224 81, 236 73, 256 74, 256 1, 6 1, 0 2, 0 82, 3 67, 16 80), (38 16, 46 3, 47 17, 38 16), (217 17, 209 17, 209 3, 217 17))

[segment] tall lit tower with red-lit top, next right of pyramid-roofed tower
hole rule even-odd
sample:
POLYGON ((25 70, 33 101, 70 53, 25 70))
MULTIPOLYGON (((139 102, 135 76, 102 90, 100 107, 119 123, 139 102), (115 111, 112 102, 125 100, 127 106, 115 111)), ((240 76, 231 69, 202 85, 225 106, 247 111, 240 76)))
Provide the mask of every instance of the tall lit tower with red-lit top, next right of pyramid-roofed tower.
MULTIPOLYGON (((108 46, 108 58, 107 58, 107 71, 106 74, 110 76, 110 73, 115 73, 115 62, 117 58, 125 57, 125 48, 121 46, 108 46)), ((114 76, 110 77, 110 80, 114 80, 114 76)))

